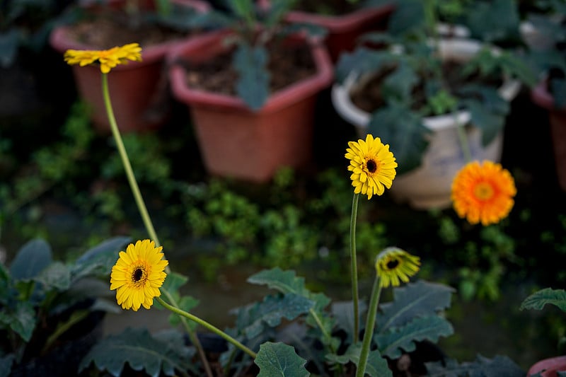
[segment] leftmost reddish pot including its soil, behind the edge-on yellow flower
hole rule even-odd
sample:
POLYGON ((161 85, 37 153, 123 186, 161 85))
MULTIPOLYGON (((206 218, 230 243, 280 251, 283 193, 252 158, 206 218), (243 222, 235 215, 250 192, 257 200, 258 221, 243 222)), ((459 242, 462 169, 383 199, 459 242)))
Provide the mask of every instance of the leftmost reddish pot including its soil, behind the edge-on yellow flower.
MULTIPOLYGON (((138 42, 144 47, 141 62, 115 68, 110 80, 110 95, 120 108, 117 122, 122 132, 146 131, 161 127, 171 112, 168 81, 164 73, 168 50, 190 35, 202 30, 186 20, 193 13, 206 12, 202 0, 172 0, 158 9, 154 1, 141 1, 137 11, 127 11, 127 1, 107 1, 79 9, 78 20, 59 25, 50 35, 57 52, 67 50, 103 50, 138 42)), ((91 106, 93 124, 102 134, 110 134, 100 70, 96 66, 74 66, 73 75, 79 95, 91 106)))

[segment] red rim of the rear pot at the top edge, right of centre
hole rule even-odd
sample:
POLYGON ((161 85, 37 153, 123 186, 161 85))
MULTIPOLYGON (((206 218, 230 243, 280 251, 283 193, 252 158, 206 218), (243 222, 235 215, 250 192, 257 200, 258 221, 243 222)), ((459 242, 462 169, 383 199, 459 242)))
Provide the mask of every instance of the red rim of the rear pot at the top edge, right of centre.
POLYGON ((388 13, 393 12, 394 8, 393 3, 383 4, 375 8, 361 8, 342 16, 324 16, 304 11, 290 11, 287 21, 293 23, 313 23, 327 28, 330 33, 344 33, 357 28, 358 25, 372 22, 375 18, 386 16, 388 13))

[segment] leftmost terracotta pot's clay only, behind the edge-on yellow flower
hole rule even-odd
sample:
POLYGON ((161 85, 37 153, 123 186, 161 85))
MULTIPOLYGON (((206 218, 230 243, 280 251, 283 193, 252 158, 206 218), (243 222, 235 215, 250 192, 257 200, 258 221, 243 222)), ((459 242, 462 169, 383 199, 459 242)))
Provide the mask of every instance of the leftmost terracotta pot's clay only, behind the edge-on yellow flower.
MULTIPOLYGON (((201 0, 174 0, 175 4, 189 6, 197 11, 207 11, 209 5, 201 0)), ((124 1, 114 1, 113 5, 124 1)), ((50 35, 50 44, 57 52, 74 50, 100 50, 74 40, 69 33, 70 26, 54 28, 50 35)), ((139 42, 132 40, 132 42, 139 42)), ((171 40, 142 47, 141 62, 129 62, 116 66, 108 77, 108 88, 112 108, 120 131, 145 131, 163 125, 169 116, 167 104, 167 77, 163 74, 167 52, 181 40, 171 40)), ((71 67, 77 90, 83 100, 91 105, 92 120, 102 134, 110 133, 110 124, 106 115, 100 69, 97 66, 71 67)))

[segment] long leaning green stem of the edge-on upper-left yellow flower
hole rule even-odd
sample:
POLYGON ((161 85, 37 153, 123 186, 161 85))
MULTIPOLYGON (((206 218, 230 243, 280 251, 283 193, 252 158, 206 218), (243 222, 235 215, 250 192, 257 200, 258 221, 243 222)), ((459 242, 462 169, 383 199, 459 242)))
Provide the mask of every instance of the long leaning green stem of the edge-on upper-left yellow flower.
MULTIPOLYGON (((116 141, 116 146, 118 152, 120 153, 120 158, 122 158, 122 165, 124 166, 124 170, 128 178, 129 186, 132 189, 132 193, 136 200, 136 204, 139 209, 139 213, 141 214, 141 218, 144 221, 146 231, 149 234, 149 237, 152 240, 154 240, 156 246, 159 247, 161 246, 161 243, 157 238, 157 233, 155 231, 154 224, 151 222, 151 218, 149 217, 149 213, 147 211, 144 199, 143 197, 141 197, 141 192, 139 191, 139 187, 137 185, 137 180, 134 175, 134 170, 132 169, 132 164, 129 163, 129 158, 126 152, 126 148, 124 146, 124 142, 122 141, 122 136, 120 135, 120 129, 118 129, 116 118, 114 116, 114 110, 112 110, 112 102, 110 101, 110 91, 108 90, 108 74, 102 74, 102 92, 104 98, 104 105, 106 108, 106 114, 108 115, 108 121, 110 122, 110 128, 112 129, 112 135, 114 136, 114 139, 116 141)), ((170 271, 171 269, 169 268, 169 266, 166 266, 166 272, 170 272, 170 271)), ((168 299, 171 300, 171 302, 175 303, 175 301, 173 300, 173 296, 171 296, 171 294, 168 291, 166 290, 163 291, 168 297, 168 299)), ((195 347, 199 352, 199 356, 202 359, 202 364, 204 366, 204 370, 207 372, 207 376, 212 377, 212 369, 210 369, 210 365, 208 363, 206 356, 204 355, 204 350, 202 349, 202 345, 200 344, 198 337, 192 331, 189 324, 187 323, 186 320, 184 320, 184 318, 182 322, 183 322, 183 326, 185 327, 185 330, 187 330, 187 334, 189 335, 192 344, 195 344, 195 347)))

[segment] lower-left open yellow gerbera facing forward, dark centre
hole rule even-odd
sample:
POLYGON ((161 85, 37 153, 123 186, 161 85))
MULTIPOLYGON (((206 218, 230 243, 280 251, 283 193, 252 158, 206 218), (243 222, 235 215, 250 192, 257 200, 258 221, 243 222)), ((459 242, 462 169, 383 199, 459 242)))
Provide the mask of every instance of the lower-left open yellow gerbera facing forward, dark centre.
POLYGON ((120 251, 110 274, 110 291, 116 289, 116 300, 123 309, 137 311, 142 305, 149 309, 154 297, 161 296, 159 287, 167 276, 163 269, 169 263, 161 259, 162 249, 154 241, 139 240, 130 243, 126 252, 120 251))

